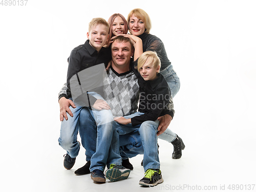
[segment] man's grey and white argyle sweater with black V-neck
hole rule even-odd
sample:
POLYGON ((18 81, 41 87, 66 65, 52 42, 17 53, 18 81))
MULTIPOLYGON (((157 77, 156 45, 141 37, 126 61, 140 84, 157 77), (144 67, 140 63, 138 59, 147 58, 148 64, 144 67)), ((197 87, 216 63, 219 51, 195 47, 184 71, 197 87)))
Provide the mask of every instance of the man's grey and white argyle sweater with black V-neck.
MULTIPOLYGON (((133 65, 133 62, 131 62, 133 65)), ((138 110, 139 85, 136 75, 132 70, 118 74, 112 67, 108 71, 108 79, 104 79, 104 98, 110 105, 114 117, 131 115, 138 110)), ((61 97, 71 98, 71 93, 65 83, 59 94, 61 97)), ((174 111, 172 98, 168 104, 168 110, 174 111)), ((168 113, 166 113, 168 114, 168 113)))

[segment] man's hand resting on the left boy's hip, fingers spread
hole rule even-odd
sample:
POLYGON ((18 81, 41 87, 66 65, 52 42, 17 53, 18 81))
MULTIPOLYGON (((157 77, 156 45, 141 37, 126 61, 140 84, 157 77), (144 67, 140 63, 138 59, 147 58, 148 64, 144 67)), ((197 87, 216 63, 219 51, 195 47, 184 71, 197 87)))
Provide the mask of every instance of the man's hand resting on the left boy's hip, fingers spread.
POLYGON ((66 99, 65 97, 61 97, 59 99, 59 110, 60 110, 59 119, 60 119, 60 121, 63 121, 63 117, 65 117, 65 119, 68 120, 67 112, 69 113, 69 115, 71 117, 73 117, 73 113, 69 109, 70 105, 73 108, 76 108, 76 105, 73 103, 72 100, 66 99))

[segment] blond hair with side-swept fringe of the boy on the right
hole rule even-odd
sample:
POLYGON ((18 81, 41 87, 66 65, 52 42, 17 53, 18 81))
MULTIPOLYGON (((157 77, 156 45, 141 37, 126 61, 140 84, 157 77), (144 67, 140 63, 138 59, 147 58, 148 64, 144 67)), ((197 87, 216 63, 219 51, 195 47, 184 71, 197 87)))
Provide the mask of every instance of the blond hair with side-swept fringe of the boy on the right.
MULTIPOLYGON (((154 51, 146 51, 142 53, 138 59, 138 71, 145 64, 145 62, 153 63, 155 68, 161 68, 161 61, 154 51)), ((158 72, 159 73, 159 72, 158 72)))

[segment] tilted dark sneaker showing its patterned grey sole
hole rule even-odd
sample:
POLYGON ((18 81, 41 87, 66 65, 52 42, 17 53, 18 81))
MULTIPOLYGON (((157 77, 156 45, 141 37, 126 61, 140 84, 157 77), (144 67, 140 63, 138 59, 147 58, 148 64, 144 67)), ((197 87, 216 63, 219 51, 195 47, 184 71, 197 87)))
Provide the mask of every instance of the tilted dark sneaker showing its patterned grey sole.
POLYGON ((123 167, 122 165, 111 164, 110 169, 105 171, 106 178, 110 181, 120 181, 127 179, 130 175, 131 170, 123 167))

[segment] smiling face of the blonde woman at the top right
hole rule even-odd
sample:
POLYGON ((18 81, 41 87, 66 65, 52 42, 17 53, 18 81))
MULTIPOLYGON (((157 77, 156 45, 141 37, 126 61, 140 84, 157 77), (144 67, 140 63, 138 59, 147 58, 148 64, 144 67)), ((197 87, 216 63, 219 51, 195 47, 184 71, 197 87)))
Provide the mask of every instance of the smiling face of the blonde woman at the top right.
POLYGON ((133 35, 141 35, 145 31, 145 24, 142 19, 132 15, 129 21, 129 28, 133 35))

